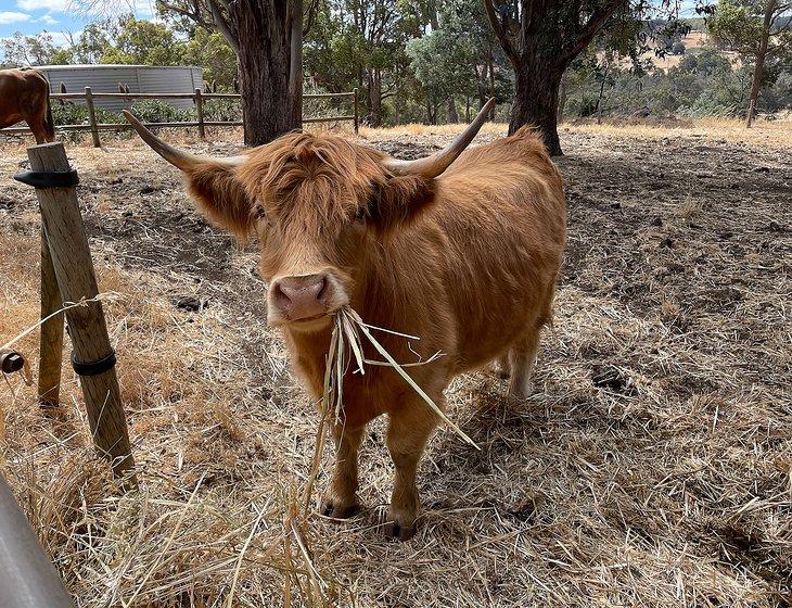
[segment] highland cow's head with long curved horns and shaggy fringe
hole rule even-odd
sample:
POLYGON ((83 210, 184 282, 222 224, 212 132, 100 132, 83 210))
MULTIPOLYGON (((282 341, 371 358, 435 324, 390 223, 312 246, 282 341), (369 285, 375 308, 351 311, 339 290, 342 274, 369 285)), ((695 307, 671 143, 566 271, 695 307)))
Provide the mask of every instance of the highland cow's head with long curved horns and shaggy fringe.
POLYGON ((243 239, 258 236, 269 322, 314 331, 350 302, 369 248, 435 200, 435 178, 475 137, 493 103, 447 148, 416 161, 305 132, 230 159, 196 156, 125 114, 151 148, 184 172, 213 221, 243 239))

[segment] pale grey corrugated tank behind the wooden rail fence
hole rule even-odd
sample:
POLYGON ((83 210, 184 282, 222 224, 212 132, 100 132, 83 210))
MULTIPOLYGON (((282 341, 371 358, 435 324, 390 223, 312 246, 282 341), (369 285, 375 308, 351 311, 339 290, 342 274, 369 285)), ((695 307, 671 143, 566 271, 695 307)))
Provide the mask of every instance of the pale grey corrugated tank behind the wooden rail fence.
MULTIPOLYGON (((203 68, 195 65, 41 65, 36 66, 50 80, 50 92, 60 93, 61 84, 66 92, 81 93, 91 87, 94 93, 117 93, 118 85, 127 85, 130 93, 192 93, 204 90, 203 68)), ((80 103, 80 100, 74 100, 80 103)), ((175 107, 189 110, 191 99, 166 100, 175 107)), ((118 112, 129 109, 131 102, 123 99, 97 99, 93 103, 118 112)))

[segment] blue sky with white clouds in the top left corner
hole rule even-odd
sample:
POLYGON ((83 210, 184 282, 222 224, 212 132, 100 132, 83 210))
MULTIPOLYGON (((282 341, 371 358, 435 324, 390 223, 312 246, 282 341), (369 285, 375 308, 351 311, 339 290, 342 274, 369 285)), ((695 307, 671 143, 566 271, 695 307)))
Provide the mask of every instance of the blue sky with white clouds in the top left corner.
MULTIPOLYGON (((111 14, 129 13, 140 18, 154 16, 154 0, 106 0, 111 14)), ((99 18, 98 13, 81 12, 74 0, 0 0, 0 39, 22 34, 48 31, 53 42, 62 46, 66 33, 79 35, 87 23, 99 18)))

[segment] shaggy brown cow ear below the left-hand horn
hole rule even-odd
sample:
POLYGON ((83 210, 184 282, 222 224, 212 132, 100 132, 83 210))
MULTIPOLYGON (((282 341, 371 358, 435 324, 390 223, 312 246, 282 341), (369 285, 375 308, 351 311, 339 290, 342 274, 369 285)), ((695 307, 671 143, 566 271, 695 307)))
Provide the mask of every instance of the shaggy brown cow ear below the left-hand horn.
POLYGON ((214 224, 244 240, 255 221, 254 204, 235 167, 206 162, 184 172, 190 194, 214 224))

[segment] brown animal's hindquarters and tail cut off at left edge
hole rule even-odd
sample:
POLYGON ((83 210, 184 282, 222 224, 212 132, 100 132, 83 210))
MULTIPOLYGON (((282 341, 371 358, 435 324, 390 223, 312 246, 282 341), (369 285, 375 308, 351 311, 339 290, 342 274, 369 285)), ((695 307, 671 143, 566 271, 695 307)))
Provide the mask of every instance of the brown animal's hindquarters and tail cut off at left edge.
POLYGON ((36 143, 55 140, 50 83, 38 69, 0 69, 0 129, 25 121, 36 143))

